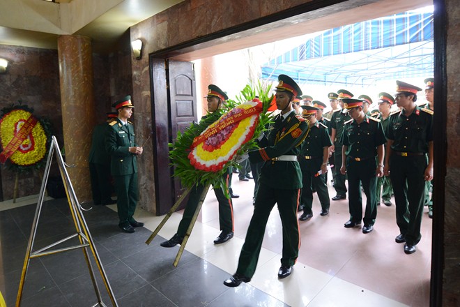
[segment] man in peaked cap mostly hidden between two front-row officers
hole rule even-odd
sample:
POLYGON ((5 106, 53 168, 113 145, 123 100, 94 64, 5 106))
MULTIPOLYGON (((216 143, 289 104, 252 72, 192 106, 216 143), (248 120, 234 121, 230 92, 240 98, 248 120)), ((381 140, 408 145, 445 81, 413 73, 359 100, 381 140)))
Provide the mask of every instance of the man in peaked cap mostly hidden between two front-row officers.
MULTIPOLYGON (((378 94, 380 100, 378 100, 378 113, 375 118, 380 119, 383 127, 383 131, 388 128, 391 117, 391 106, 394 104, 394 98, 389 93, 381 92, 378 94)), ((387 144, 384 147, 386 149, 387 144)), ((382 176, 377 178, 376 188, 376 200, 377 204, 380 204, 380 197, 382 196, 382 202, 385 206, 391 206, 391 195, 393 194, 393 188, 391 186, 390 177, 382 176)))

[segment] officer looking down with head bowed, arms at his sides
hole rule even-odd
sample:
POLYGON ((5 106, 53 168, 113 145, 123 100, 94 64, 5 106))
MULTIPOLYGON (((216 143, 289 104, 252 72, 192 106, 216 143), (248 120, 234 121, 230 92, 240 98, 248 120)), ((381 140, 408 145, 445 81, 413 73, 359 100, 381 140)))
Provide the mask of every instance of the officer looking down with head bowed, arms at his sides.
POLYGON ((380 119, 368 117, 362 110, 362 100, 343 99, 344 112, 351 119, 345 122, 342 134, 342 167, 340 172, 348 174, 348 207, 350 219, 346 228, 361 225, 362 233, 374 230, 377 216, 376 184, 377 177, 383 176, 383 144, 387 141, 380 119), (377 162, 376 162, 377 157, 377 162), (367 202, 362 217, 361 186, 367 202))

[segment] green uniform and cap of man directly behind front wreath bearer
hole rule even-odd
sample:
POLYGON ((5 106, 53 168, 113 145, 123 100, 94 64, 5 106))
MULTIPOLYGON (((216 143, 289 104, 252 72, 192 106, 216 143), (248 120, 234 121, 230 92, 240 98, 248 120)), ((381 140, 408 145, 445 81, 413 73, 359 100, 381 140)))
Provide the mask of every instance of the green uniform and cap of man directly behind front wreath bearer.
MULTIPOLYGON (((314 107, 302 107, 306 112, 314 107)), ((332 146, 328 134, 328 128, 316 121, 310 127, 309 133, 305 138, 300 149, 299 163, 302 170, 302 191, 300 200, 303 204, 304 214, 312 214, 313 193, 312 184, 316 189, 321 209, 328 211, 330 207, 330 199, 328 186, 325 184, 326 174, 318 174, 323 164, 323 148, 332 146)))

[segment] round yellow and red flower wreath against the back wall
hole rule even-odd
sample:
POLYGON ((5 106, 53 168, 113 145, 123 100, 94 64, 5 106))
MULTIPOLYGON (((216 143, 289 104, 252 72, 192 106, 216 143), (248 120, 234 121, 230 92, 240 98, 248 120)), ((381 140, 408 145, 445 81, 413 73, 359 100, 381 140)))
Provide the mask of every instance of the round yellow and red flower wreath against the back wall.
POLYGON ((0 114, 0 163, 10 161, 17 171, 43 165, 50 140, 50 124, 26 105, 4 107, 0 114))

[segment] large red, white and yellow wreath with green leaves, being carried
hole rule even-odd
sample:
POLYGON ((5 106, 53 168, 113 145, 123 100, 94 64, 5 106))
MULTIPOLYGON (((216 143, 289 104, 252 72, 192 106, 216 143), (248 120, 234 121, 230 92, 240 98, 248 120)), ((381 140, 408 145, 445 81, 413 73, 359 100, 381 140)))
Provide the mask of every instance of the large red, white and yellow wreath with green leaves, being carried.
POLYGON ((174 165, 174 176, 183 186, 213 184, 224 186, 228 167, 238 167, 235 159, 257 149, 256 138, 270 122, 268 107, 273 97, 270 87, 257 89, 247 85, 238 102, 227 100, 224 108, 208 113, 199 123, 193 123, 184 133, 178 133, 169 157, 174 165), (259 99, 254 97, 259 96, 259 99))

